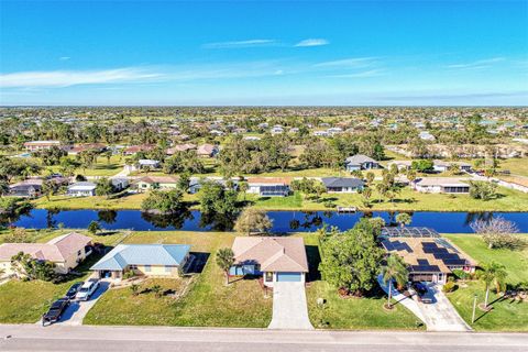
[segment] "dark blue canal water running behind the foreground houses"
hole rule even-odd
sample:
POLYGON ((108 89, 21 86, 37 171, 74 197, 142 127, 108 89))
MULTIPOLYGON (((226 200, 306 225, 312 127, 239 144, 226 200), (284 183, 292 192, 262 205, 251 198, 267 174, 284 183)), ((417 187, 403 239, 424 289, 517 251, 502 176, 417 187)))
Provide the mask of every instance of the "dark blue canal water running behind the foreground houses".
MULTIPOLYGON (((338 213, 336 211, 268 211, 273 221, 272 232, 309 232, 323 224, 340 230, 352 228, 362 217, 381 217, 386 223, 394 223, 395 212, 374 211, 338 213)), ((517 224, 520 232, 528 232, 528 212, 435 212, 417 211, 411 213, 414 227, 429 227, 443 233, 473 232, 470 224, 477 219, 503 217, 517 224)), ((131 229, 211 231, 230 230, 232 221, 220 218, 206 218, 199 211, 186 211, 174 216, 156 216, 140 210, 45 210, 33 209, 29 213, 9 222, 29 229, 64 228, 86 229, 91 221, 99 221, 107 230, 131 229)), ((7 221, 4 219, 4 224, 7 221)))

